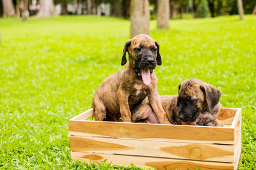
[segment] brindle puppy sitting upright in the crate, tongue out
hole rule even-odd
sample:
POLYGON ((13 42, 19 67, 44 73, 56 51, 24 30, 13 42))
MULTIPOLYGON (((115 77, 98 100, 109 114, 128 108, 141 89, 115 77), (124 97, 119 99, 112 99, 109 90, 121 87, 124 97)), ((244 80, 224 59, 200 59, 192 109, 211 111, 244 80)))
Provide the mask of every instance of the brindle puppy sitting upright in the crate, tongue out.
POLYGON ((92 107, 95 120, 131 122, 131 111, 148 96, 148 101, 161 124, 170 124, 157 94, 157 78, 153 69, 161 65, 159 44, 150 36, 140 34, 124 46, 124 70, 111 74, 97 88, 92 107))

